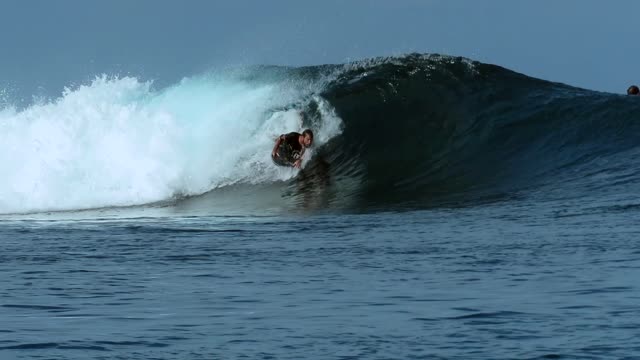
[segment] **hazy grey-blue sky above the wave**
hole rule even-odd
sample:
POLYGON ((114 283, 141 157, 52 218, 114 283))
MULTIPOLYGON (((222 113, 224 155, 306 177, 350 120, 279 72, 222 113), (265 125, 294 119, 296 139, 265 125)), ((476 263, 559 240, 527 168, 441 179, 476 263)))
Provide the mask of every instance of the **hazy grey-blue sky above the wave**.
POLYGON ((419 52, 624 93, 640 83, 639 15, 636 0, 3 0, 0 92, 419 52))

